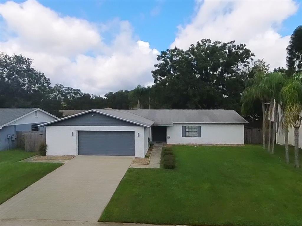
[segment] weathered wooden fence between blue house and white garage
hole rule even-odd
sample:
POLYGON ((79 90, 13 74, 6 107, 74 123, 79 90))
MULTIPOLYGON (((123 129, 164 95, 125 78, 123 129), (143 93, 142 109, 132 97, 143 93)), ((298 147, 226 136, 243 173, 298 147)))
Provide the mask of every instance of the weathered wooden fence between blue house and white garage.
POLYGON ((27 152, 37 152, 45 142, 45 131, 17 131, 17 147, 27 152))

